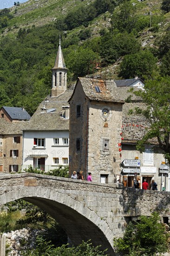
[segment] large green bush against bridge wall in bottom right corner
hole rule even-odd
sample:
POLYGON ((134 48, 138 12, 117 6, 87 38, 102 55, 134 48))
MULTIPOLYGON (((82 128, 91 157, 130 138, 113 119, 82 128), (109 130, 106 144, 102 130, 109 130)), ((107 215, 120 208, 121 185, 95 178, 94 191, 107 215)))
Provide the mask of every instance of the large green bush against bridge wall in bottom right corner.
POLYGON ((159 223, 158 213, 150 217, 141 216, 141 221, 128 224, 123 238, 114 239, 116 252, 131 256, 154 256, 168 249, 167 235, 164 226, 159 223))

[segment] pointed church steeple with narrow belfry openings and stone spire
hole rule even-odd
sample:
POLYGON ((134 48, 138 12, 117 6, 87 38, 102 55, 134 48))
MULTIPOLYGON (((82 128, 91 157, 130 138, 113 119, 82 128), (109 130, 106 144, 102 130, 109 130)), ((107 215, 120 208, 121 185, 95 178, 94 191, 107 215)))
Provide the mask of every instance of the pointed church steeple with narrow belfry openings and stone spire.
POLYGON ((67 68, 61 50, 61 40, 59 36, 59 49, 52 68, 52 97, 56 97, 63 93, 67 88, 67 68))

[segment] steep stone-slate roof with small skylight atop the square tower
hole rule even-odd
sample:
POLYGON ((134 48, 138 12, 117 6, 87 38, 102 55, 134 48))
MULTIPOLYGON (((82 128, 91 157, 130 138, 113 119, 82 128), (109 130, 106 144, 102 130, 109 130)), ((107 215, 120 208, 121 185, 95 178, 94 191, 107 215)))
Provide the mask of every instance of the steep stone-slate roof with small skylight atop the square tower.
MULTIPOLYGON (((74 92, 75 92, 76 87, 78 86, 78 82, 81 83, 85 95, 90 100, 124 103, 123 99, 119 95, 118 88, 113 80, 107 80, 105 83, 105 81, 102 79, 78 77, 78 81, 74 88, 74 92), (95 87, 100 88, 99 93, 96 91, 95 87)), ((74 92, 73 92, 73 94, 74 94, 74 92)), ((73 96, 73 94, 72 94, 72 96, 73 96)), ((71 100, 71 98, 70 98, 70 100, 71 100)))

